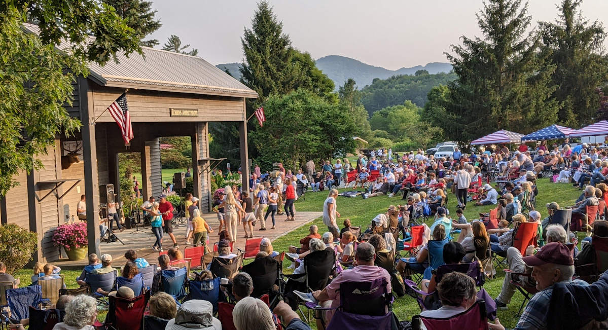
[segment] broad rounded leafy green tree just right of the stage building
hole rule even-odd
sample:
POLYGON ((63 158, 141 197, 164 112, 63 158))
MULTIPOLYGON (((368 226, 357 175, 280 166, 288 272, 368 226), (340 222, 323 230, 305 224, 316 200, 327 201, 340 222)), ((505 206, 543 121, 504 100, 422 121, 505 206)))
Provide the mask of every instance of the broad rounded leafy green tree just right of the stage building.
POLYGON ((356 130, 339 103, 298 89, 287 95, 271 95, 264 103, 266 122, 250 133, 260 151, 261 165, 281 161, 287 167, 308 159, 329 159, 354 151, 351 134, 356 130))

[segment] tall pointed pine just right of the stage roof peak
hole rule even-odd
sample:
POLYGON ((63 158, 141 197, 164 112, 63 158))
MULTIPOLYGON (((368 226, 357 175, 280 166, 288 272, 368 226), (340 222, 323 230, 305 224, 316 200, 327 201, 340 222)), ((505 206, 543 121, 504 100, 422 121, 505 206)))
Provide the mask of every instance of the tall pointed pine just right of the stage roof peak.
POLYGON ((258 4, 251 29, 245 29, 241 44, 245 55, 241 81, 258 92, 260 101, 273 93, 293 90, 291 41, 268 2, 258 4))

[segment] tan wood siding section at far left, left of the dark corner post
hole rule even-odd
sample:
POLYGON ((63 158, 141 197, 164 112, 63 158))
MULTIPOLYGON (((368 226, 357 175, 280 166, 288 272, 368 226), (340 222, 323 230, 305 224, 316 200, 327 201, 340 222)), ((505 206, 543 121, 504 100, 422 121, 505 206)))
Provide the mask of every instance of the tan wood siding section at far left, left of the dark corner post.
POLYGON ((27 208, 27 174, 21 171, 13 177, 13 181, 19 185, 11 188, 4 196, 6 203, 6 223, 16 224, 25 229, 30 229, 29 211, 27 208))

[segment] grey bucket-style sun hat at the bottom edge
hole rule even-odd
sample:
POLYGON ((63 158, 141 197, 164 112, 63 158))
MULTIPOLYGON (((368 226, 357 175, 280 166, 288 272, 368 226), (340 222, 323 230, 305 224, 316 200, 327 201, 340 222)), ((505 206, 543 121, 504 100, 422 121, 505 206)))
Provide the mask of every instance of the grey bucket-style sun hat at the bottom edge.
POLYGON ((188 300, 182 303, 175 318, 167 322, 165 330, 221 329, 219 320, 213 317, 213 305, 207 300, 188 300))

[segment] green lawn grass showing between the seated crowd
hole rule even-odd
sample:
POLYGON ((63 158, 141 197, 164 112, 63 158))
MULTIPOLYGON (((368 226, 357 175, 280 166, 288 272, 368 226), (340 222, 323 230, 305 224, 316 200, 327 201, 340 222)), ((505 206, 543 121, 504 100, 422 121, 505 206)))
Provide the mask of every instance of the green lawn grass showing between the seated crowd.
MULTIPOLYGON (((165 175, 165 170, 163 171, 165 175)), ((167 175, 172 174, 174 170, 167 170, 167 175)), ((547 210, 545 208, 545 204, 548 202, 558 202, 561 207, 565 207, 568 205, 572 205, 576 198, 579 196, 579 191, 576 188, 572 187, 569 184, 551 184, 548 182, 548 179, 541 179, 538 181, 539 195, 537 196, 537 209, 541 211, 541 215, 544 218, 547 215, 547 210)), ((308 192, 306 193, 306 201, 303 201, 300 198, 295 203, 296 211, 322 211, 323 209, 323 201, 327 196, 326 191, 321 191, 318 193, 308 192)), ((456 206, 456 197, 454 194, 449 193, 448 195, 448 208, 451 211, 452 215, 455 214, 455 206, 456 206)), ((342 198, 339 197, 337 199, 337 210, 339 211, 341 218, 338 221, 340 227, 342 227, 342 221, 344 219, 351 219, 353 226, 359 226, 362 228, 367 228, 367 226, 371 223, 371 219, 373 219, 379 213, 384 213, 387 210, 389 205, 397 205, 400 204, 401 197, 393 197, 389 198, 388 196, 379 196, 370 199, 361 199, 361 198, 342 198)), ((475 219, 480 212, 487 212, 492 208, 490 206, 478 206, 475 207, 469 204, 469 207, 465 210, 466 218, 471 221, 475 219)), ((325 232, 326 227, 323 225, 321 219, 316 219, 312 223, 317 224, 319 226, 319 232, 325 232)), ((430 225, 431 221, 428 222, 430 225)), ((276 241, 272 243, 274 246, 274 250, 277 251, 285 251, 287 250, 289 245, 297 245, 300 238, 308 235, 308 225, 303 225, 299 229, 294 230, 293 232, 285 235, 281 238, 278 238, 276 241)), ((579 237, 579 240, 582 239, 582 236, 579 237)), ((286 261, 285 266, 289 265, 289 261, 286 261)), ((116 265, 122 266, 122 265, 116 265)), ((286 273, 291 272, 289 269, 285 269, 286 273)), ((66 285, 68 288, 75 288, 78 284, 75 282, 75 278, 80 275, 78 271, 62 271, 65 275, 66 285)), ((17 274, 16 277, 21 279, 21 285, 27 285, 30 283, 30 277, 32 276, 32 269, 22 269, 17 274)), ((500 287, 502 286, 502 281, 504 278, 504 272, 499 270, 496 278, 492 280, 486 281, 484 288, 489 292, 489 294, 495 298, 500 292, 500 287)), ((501 320, 501 323, 506 328, 513 328, 517 323, 516 313, 519 309, 520 304, 522 303, 522 295, 517 292, 511 304, 509 305, 509 309, 506 311, 499 311, 498 316, 501 320)), ((410 320, 413 315, 420 313, 420 308, 418 308, 418 304, 416 304, 415 300, 409 296, 396 298, 395 303, 393 304, 393 311, 396 313, 399 320, 410 320)), ((102 315, 100 315, 100 319, 102 315)), ((311 325, 314 327, 314 325, 311 325)))

